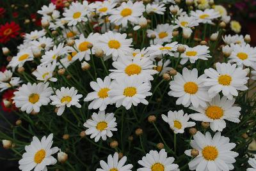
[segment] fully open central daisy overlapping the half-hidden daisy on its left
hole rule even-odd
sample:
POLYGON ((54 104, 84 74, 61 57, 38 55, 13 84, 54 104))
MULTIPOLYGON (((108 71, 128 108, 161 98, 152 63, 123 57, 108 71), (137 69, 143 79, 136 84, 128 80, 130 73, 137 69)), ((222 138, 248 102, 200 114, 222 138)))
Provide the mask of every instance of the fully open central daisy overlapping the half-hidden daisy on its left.
POLYGON ((113 82, 113 87, 108 93, 111 97, 111 102, 116 103, 116 107, 122 105, 128 110, 132 105, 137 106, 139 103, 148 105, 148 101, 145 98, 152 96, 152 93, 149 92, 150 89, 149 82, 142 83, 136 77, 122 77, 113 82))

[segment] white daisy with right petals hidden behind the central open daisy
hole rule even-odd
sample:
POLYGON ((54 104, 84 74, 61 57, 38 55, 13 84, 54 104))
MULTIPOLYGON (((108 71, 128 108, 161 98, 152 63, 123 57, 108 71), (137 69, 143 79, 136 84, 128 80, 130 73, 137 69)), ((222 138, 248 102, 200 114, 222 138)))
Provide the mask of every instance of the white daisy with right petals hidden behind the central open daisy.
POLYGON ((92 93, 88 93, 84 101, 92 101, 88 106, 89 109, 97 109, 100 111, 105 110, 107 105, 111 103, 111 98, 108 92, 111 90, 110 77, 105 77, 104 80, 97 78, 97 82, 90 82, 92 93))

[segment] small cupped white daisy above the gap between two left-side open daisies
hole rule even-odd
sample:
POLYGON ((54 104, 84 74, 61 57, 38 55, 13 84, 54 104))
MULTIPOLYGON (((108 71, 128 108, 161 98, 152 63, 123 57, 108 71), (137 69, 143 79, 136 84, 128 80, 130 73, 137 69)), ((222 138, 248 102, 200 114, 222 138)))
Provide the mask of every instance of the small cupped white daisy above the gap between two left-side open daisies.
POLYGON ((48 80, 51 82, 56 82, 57 78, 52 77, 52 73, 56 68, 56 64, 47 64, 44 66, 38 65, 36 70, 33 71, 33 75, 35 75, 36 80, 41 80, 47 82, 48 80))

